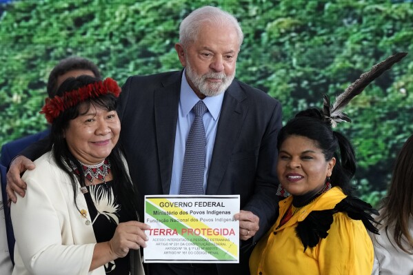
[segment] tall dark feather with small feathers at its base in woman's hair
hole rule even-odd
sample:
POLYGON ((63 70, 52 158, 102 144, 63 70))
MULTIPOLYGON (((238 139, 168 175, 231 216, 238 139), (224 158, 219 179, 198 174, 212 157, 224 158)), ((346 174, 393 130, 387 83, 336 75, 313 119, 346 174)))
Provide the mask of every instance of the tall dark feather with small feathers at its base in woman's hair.
POLYGON ((392 68, 394 63, 401 61, 401 59, 403 59, 406 55, 407 52, 398 52, 374 65, 370 71, 361 74, 359 79, 354 81, 347 87, 347 89, 345 89, 343 93, 337 96, 333 105, 330 105, 330 98, 327 95, 324 95, 323 114, 325 119, 330 121, 332 127, 336 127, 336 123, 341 121, 350 122, 351 119, 347 116, 347 114, 342 112, 345 105, 347 105, 354 98, 354 96, 363 92, 364 88, 374 81, 374 79, 379 77, 386 70, 392 68))

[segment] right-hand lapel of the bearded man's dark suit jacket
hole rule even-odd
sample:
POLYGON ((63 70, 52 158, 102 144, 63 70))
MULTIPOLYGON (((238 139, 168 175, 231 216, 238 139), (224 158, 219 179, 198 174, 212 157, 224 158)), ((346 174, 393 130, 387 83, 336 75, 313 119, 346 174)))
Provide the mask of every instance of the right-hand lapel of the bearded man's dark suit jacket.
POLYGON ((244 99, 246 99, 246 96, 241 90, 239 83, 233 81, 228 90, 225 91, 223 98, 214 150, 212 151, 206 194, 217 194, 225 170, 228 163, 230 163, 232 147, 239 136, 245 115, 248 112, 248 105, 242 102, 244 99))

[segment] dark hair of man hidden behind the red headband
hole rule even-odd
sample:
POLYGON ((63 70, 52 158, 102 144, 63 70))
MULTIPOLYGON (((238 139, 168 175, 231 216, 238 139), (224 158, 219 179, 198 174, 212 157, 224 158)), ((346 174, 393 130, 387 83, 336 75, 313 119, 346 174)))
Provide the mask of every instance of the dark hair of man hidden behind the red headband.
POLYGON ((54 66, 52 72, 49 74, 47 91, 50 98, 56 95, 57 89, 59 88, 57 87, 57 79, 61 75, 72 70, 90 70, 93 72, 94 77, 101 79, 101 72, 97 68, 97 65, 92 61, 82 57, 68 57, 62 59, 56 66, 54 66))

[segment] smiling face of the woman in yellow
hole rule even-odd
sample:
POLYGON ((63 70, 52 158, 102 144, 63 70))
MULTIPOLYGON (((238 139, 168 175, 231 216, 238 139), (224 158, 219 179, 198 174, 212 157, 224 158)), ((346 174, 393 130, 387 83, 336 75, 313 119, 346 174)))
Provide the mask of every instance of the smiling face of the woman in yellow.
POLYGON ((325 160, 321 149, 305 136, 288 136, 281 144, 277 173, 283 188, 293 196, 321 190, 336 164, 325 160))

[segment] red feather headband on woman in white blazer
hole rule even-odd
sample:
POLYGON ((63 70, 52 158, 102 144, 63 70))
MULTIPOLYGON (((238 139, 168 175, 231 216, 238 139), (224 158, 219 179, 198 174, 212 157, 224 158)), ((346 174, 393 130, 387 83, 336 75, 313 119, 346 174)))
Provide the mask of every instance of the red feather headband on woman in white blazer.
POLYGON ((121 88, 116 81, 108 77, 104 81, 97 81, 77 90, 65 92, 62 96, 54 96, 52 99, 47 98, 40 113, 45 114, 48 123, 52 123, 64 110, 68 110, 86 99, 94 99, 102 94, 109 93, 118 97, 121 93, 121 88))

